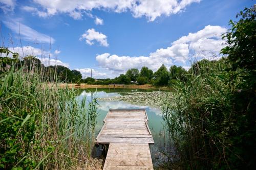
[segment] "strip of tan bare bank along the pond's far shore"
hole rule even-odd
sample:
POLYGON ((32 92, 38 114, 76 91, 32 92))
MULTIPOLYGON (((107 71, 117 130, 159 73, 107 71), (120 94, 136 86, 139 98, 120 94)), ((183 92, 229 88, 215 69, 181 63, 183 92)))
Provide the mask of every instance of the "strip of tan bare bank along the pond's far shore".
MULTIPOLYGON (((48 84, 49 86, 53 85, 52 83, 48 84)), ((58 83, 58 87, 65 88, 68 86, 68 88, 113 88, 113 85, 95 85, 95 84, 84 84, 81 83, 80 85, 75 83, 58 83)), ((170 87, 156 87, 151 84, 144 84, 144 85, 136 85, 136 84, 130 84, 130 85, 115 85, 115 88, 127 88, 127 89, 160 89, 160 90, 171 90, 170 87)))

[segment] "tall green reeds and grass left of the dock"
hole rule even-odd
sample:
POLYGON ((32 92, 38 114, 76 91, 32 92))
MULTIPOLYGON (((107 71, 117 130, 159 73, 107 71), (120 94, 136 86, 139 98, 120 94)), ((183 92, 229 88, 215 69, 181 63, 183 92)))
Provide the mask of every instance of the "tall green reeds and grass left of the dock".
POLYGON ((36 61, 1 63, 0 168, 76 169, 92 154, 96 97, 78 101, 36 61))

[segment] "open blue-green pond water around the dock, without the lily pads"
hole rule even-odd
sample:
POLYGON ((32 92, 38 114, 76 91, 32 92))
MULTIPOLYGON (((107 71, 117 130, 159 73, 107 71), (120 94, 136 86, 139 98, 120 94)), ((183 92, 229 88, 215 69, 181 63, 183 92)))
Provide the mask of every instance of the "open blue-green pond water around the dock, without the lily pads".
POLYGON ((97 117, 97 124, 95 127, 95 135, 97 136, 100 129, 103 126, 103 119, 105 118, 106 114, 108 113, 109 109, 146 109, 146 113, 148 116, 148 126, 152 132, 155 144, 150 145, 151 155, 153 164, 156 166, 162 159, 162 154, 160 151, 164 150, 164 133, 163 133, 163 125, 162 125, 162 116, 161 110, 157 107, 153 106, 141 106, 132 104, 129 102, 124 101, 116 101, 111 100, 116 96, 126 95, 126 93, 131 92, 153 92, 159 91, 154 89, 113 89, 113 88, 97 88, 97 89, 78 89, 78 99, 81 99, 84 95, 87 96, 87 99, 91 99, 91 95, 97 96, 98 99, 100 98, 110 98, 110 100, 98 100, 98 117, 97 117))

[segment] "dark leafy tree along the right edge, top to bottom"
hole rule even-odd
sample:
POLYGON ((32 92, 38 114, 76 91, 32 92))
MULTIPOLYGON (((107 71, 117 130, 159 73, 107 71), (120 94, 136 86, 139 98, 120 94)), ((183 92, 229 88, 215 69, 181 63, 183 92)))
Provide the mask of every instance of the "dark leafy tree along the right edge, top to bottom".
MULTIPOLYGON (((230 20, 231 29, 223 36, 228 46, 221 53, 228 55, 231 68, 229 86, 232 89, 228 117, 232 120, 230 134, 230 148, 225 155, 232 168, 252 169, 256 166, 256 6, 245 8, 237 18, 239 21, 230 20), (234 126, 234 127, 232 127, 234 126), (246 142, 245 142, 246 141, 246 142)), ((230 167, 229 167, 230 168, 230 167)))

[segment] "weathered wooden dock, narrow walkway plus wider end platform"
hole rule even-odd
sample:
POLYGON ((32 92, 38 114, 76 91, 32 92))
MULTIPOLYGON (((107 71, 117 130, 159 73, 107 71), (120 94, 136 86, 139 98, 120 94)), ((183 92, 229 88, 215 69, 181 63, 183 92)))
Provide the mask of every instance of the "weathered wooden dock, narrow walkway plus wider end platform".
POLYGON ((150 147, 154 139, 145 109, 111 109, 96 143, 109 144, 103 170, 153 169, 150 147))

